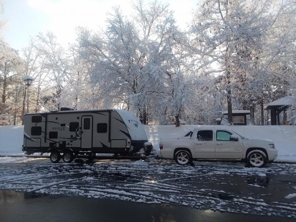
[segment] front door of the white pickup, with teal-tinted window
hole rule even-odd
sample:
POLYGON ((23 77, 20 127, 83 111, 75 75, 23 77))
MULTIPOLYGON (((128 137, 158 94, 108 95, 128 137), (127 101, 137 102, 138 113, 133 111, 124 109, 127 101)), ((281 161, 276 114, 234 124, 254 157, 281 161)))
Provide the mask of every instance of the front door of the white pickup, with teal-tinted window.
POLYGON ((243 146, 241 139, 230 140, 232 133, 226 130, 216 132, 216 158, 217 159, 241 159, 243 146))

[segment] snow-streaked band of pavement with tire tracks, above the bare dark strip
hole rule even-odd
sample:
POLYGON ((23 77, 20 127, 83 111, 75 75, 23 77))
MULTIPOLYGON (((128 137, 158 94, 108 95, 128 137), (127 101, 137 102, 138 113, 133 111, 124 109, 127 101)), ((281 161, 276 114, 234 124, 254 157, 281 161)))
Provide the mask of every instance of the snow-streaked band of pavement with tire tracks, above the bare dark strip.
POLYGON ((48 159, 0 164, 0 189, 296 218, 292 196, 296 164, 265 168, 195 164, 142 160, 52 164, 48 159))

